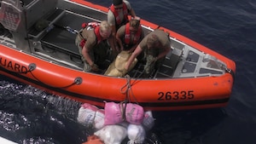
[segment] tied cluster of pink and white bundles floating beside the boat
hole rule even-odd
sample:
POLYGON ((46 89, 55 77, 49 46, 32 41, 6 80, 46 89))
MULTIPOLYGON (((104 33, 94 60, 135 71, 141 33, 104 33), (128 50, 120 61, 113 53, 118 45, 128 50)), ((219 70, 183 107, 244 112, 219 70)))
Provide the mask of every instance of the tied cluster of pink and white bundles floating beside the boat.
POLYGON ((154 126, 152 112, 144 112, 137 104, 122 102, 106 102, 104 110, 84 103, 79 109, 78 121, 96 128, 94 135, 105 144, 119 144, 127 136, 129 144, 143 143, 146 131, 154 126))

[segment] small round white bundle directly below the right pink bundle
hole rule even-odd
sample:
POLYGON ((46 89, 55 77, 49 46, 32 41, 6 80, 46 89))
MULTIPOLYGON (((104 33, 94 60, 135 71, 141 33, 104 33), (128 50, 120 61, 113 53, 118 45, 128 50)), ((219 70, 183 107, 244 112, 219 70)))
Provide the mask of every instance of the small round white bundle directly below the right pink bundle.
POLYGON ((146 132, 141 124, 129 124, 127 135, 130 140, 127 142, 128 144, 143 144, 146 132))

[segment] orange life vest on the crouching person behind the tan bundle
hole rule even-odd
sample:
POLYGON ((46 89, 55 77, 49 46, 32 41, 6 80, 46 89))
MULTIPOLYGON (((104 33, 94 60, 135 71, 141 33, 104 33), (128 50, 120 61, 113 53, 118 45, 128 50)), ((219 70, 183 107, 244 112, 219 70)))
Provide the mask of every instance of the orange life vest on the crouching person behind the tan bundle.
POLYGON ((135 33, 135 35, 133 37, 133 41, 131 42, 130 23, 128 22, 125 25, 125 44, 131 45, 131 44, 138 43, 140 40, 141 34, 142 34, 142 26, 139 26, 137 29, 137 32, 135 33))

